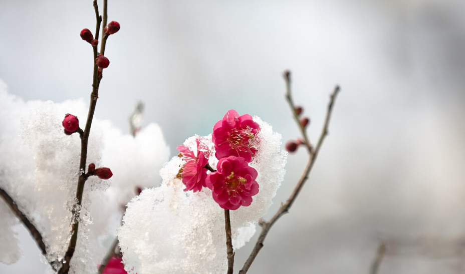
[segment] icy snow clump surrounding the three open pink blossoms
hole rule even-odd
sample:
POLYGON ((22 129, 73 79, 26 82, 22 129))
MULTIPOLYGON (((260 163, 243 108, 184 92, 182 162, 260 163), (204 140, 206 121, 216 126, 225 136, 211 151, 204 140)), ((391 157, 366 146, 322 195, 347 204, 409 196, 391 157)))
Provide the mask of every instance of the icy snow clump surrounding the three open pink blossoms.
MULTIPOLYGON (((259 173, 260 192, 251 206, 230 211, 235 249, 254 235, 256 223, 271 206, 285 173, 287 153, 280 149, 281 135, 260 118, 254 117, 254 121, 262 129, 255 142, 259 153, 251 163, 259 173)), ((218 160, 211 135, 190 137, 184 145, 195 151, 196 138, 215 167, 218 160)), ((173 157, 160 171, 161 186, 144 190, 128 204, 118 239, 125 269, 131 274, 226 272, 224 210, 207 188, 196 193, 183 191, 184 185, 175 177, 182 164, 179 157, 173 157)))

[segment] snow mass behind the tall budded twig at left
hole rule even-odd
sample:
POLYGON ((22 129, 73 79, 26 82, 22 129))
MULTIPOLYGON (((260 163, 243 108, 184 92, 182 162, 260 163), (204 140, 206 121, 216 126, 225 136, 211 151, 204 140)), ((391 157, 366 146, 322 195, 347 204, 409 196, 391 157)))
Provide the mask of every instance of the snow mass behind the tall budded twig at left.
MULTIPOLYGON (((24 102, 8 94, 0 81, 0 186, 44 236, 49 261, 61 259, 67 249, 79 172, 79 135, 65 135, 61 122, 66 113, 72 113, 82 128, 87 111, 82 100, 24 102)), ((110 180, 90 177, 86 182, 70 273, 97 272, 116 235, 124 204, 135 196, 136 185, 159 184, 157 171, 168 155, 157 125, 147 126, 133 138, 94 118, 87 163, 110 167, 114 175, 110 180)), ((9 208, 2 200, 0 232, 5 234, 0 249, 8 254, 0 251, 0 261, 12 263, 19 257, 10 229, 16 221, 11 214, 3 214, 5 210, 9 208)))

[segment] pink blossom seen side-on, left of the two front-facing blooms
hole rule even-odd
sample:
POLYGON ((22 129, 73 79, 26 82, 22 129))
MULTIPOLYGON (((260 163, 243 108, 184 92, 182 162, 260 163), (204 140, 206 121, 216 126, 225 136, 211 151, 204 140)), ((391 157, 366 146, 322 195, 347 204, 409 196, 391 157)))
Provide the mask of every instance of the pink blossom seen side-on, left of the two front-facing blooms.
POLYGON ((194 155, 194 152, 184 145, 177 147, 180 151, 178 156, 186 161, 178 173, 178 177, 182 179, 182 183, 186 186, 184 191, 193 190, 197 192, 202 190, 202 187, 206 187, 206 169, 203 167, 208 164, 208 160, 205 158, 203 152, 198 150, 198 139, 196 142, 197 155, 194 155))

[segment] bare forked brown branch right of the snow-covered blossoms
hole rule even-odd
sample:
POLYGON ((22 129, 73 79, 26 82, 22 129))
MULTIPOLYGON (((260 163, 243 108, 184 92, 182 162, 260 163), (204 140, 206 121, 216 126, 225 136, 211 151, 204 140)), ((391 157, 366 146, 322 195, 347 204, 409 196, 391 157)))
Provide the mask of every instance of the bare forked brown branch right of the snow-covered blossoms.
MULTIPOLYGON (((289 102, 290 107, 292 108, 292 111, 294 112, 294 117, 296 118, 297 113, 295 111, 295 107, 294 107, 291 92, 290 92, 290 86, 291 86, 290 82, 291 81, 290 81, 289 73, 285 74, 285 79, 286 79, 286 86, 287 86, 287 90, 288 90, 288 93, 287 93, 288 102, 289 102)), ((250 266, 254 262, 254 259, 257 257, 258 253, 260 252, 260 249, 262 249, 263 242, 265 241, 265 237, 267 236, 268 232, 270 231, 270 228, 273 226, 273 224, 275 224, 275 222, 281 216, 288 213, 289 209, 291 208, 292 204, 294 203, 295 199, 297 198, 297 195, 299 195, 300 190, 304 186, 305 182, 308 180, 309 173, 312 170, 313 165, 315 164, 315 160, 316 160, 316 158, 318 156, 318 152, 320 151, 320 148, 321 148, 321 146, 323 144, 323 141, 324 141, 326 135, 328 135, 328 125, 329 125, 329 121, 330 121, 330 118, 331 118, 333 105, 334 105, 334 102, 336 100, 336 96, 339 93, 339 90, 340 89, 337 86, 334 89, 331 96, 330 96, 330 101, 329 101, 328 109, 327 109, 327 112, 326 112, 325 123, 323 125, 323 131, 322 131, 322 133, 320 135, 320 139, 318 140, 318 143, 317 143, 314 150, 312 149, 312 146, 311 146, 310 142, 308 142, 308 138, 307 138, 307 135, 305 133, 305 129, 302 127, 299 119, 296 119, 296 122, 299 125, 299 128, 301 129, 302 137, 306 141, 306 146, 307 146, 307 149, 308 149, 308 152, 309 152, 309 160, 308 160, 307 166, 305 167, 304 173, 300 177, 299 182, 297 183, 296 187, 294 188, 294 191, 292 192, 291 196, 287 199, 287 201, 284 204, 283 203, 281 204, 280 208, 275 213, 275 215, 270 219, 270 221, 267 222, 267 221, 259 220, 259 224, 262 226, 262 232, 260 233, 260 236, 259 236, 259 238, 258 238, 258 240, 257 240, 257 242, 255 244, 255 247, 252 250, 251 254, 249 255, 249 258, 244 263, 244 266, 241 269, 241 271, 239 271, 239 274, 246 274, 247 273, 250 266)))

